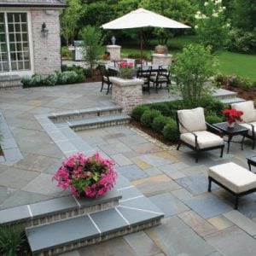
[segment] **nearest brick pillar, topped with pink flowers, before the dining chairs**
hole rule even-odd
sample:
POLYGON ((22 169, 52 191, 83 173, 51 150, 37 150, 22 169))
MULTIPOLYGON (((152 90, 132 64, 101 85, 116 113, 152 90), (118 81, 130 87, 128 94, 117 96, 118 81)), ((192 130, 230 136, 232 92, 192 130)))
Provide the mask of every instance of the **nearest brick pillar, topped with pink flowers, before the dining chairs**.
POLYGON ((132 109, 143 103, 143 80, 121 79, 110 77, 112 86, 112 100, 123 108, 124 113, 131 113, 132 109))

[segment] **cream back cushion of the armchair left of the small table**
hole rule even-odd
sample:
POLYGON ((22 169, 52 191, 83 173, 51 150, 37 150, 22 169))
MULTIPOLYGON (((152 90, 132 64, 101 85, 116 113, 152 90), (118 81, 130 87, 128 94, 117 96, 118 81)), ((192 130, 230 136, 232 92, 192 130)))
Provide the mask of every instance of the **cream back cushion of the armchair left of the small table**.
MULTIPOLYGON (((177 110, 177 118, 189 131, 206 131, 206 119, 203 108, 177 110)), ((179 125, 180 133, 188 131, 179 125)))

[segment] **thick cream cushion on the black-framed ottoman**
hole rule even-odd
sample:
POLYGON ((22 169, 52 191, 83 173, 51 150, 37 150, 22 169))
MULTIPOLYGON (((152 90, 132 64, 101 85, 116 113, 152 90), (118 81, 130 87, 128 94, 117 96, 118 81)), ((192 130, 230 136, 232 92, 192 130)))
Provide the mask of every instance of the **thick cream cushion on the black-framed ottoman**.
POLYGON ((256 175, 232 162, 210 167, 208 176, 236 194, 256 188, 256 175))

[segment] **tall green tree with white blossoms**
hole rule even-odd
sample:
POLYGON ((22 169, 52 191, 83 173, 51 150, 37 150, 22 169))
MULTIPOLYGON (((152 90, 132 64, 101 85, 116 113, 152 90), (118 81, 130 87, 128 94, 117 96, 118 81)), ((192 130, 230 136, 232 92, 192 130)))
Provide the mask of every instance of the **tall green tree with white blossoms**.
POLYGON ((195 31, 201 44, 211 45, 213 51, 229 43, 230 23, 225 20, 225 9, 222 0, 208 0, 195 15, 195 31))

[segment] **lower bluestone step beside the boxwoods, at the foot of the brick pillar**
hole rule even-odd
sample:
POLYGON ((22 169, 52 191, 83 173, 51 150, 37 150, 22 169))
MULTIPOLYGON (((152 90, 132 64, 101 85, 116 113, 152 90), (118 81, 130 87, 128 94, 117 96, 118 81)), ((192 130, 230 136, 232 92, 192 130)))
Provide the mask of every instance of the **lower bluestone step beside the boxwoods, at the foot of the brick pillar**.
POLYGON ((122 113, 96 117, 93 119, 80 119, 68 121, 68 125, 74 131, 84 131, 88 129, 102 128, 114 125, 126 125, 129 124, 130 120, 130 115, 122 113))

